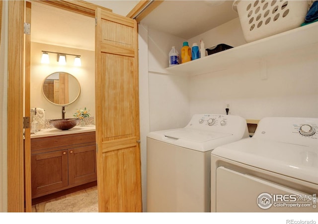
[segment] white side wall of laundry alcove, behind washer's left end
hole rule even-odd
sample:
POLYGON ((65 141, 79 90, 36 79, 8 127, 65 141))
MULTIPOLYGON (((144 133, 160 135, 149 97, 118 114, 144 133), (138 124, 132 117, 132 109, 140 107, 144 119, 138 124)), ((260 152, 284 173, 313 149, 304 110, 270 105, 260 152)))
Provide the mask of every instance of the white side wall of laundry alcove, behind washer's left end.
POLYGON ((164 74, 171 47, 180 54, 183 41, 148 29, 150 131, 184 127, 189 121, 189 79, 164 74))

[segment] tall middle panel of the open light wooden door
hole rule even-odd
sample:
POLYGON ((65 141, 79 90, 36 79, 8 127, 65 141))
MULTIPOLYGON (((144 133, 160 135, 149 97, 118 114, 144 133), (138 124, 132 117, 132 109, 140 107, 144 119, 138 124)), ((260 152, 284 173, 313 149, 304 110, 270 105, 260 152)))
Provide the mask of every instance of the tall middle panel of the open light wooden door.
POLYGON ((103 68, 106 74, 105 101, 103 104, 104 140, 134 136, 136 122, 133 59, 121 55, 102 54, 102 60, 110 65, 103 68), (109 74, 109 75, 108 75, 109 74), (110 75, 112 74, 112 75, 110 75))

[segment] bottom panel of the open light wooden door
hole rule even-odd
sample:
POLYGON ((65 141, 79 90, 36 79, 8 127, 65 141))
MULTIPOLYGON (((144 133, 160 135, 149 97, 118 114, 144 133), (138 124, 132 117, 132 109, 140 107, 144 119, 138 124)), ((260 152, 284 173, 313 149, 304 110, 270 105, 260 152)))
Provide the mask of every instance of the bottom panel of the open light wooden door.
POLYGON ((104 207, 111 212, 140 211, 140 183, 136 175, 140 172, 136 167, 139 153, 136 147, 127 147, 103 152, 104 177, 108 180, 104 185, 104 207))

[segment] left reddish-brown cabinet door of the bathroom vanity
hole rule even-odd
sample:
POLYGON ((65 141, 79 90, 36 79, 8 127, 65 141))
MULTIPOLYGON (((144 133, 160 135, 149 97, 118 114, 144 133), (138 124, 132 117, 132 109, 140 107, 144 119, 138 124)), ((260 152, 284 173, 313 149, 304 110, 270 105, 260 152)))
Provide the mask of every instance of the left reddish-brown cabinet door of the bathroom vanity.
POLYGON ((67 150, 31 155, 32 198, 68 186, 67 150))

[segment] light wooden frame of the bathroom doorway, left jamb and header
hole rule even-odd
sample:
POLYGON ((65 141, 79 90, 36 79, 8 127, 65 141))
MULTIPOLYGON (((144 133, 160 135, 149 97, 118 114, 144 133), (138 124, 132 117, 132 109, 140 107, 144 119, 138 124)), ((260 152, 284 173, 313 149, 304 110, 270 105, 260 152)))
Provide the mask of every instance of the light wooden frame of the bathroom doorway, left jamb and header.
MULTIPOLYGON (((7 211, 25 212, 24 200, 24 15, 25 2, 34 0, 8 1, 8 91, 7 91, 7 211)), ((82 15, 95 17, 96 8, 112 11, 99 5, 80 0, 36 0, 36 2, 59 7, 82 15)), ((141 1, 150 2, 150 0, 141 1)), ((145 4, 146 5, 146 4, 145 4)), ((134 8, 134 13, 143 8, 134 8)), ((149 10, 147 11, 149 13, 149 10)), ((129 16, 130 15, 130 16, 129 16)), ((28 101, 29 102, 29 99, 28 101)), ((29 177, 31 178, 31 177, 29 177)))

